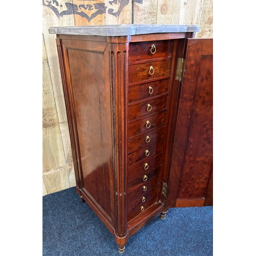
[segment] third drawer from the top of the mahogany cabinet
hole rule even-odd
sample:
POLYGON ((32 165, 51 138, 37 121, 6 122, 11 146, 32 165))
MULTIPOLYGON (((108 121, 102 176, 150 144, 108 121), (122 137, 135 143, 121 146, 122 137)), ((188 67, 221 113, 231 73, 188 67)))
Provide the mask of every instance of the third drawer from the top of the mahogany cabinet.
POLYGON ((139 86, 130 86, 128 92, 128 102, 132 103, 146 98, 151 98, 168 92, 168 79, 148 82, 139 86))

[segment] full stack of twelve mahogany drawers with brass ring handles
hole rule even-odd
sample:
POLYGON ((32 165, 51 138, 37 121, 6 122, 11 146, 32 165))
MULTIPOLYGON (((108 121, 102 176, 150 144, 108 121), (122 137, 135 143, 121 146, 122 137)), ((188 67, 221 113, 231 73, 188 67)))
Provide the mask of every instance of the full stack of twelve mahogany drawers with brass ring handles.
POLYGON ((160 199, 173 41, 131 42, 127 221, 160 199))

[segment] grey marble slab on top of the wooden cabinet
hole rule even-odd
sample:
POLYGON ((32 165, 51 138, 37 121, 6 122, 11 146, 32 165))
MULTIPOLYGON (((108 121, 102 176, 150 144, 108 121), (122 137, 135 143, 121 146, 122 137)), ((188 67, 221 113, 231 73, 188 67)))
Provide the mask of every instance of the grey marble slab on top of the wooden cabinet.
POLYGON ((198 31, 199 26, 197 25, 101 25, 49 28, 50 34, 98 36, 128 36, 152 33, 198 31))

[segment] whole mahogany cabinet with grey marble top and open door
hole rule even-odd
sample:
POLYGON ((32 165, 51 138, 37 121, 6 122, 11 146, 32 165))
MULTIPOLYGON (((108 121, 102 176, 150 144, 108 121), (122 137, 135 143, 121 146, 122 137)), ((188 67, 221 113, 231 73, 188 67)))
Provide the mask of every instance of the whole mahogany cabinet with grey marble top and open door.
POLYGON ((49 29, 57 34, 76 190, 119 252, 168 208, 212 205, 212 39, 193 38, 197 31, 49 29))

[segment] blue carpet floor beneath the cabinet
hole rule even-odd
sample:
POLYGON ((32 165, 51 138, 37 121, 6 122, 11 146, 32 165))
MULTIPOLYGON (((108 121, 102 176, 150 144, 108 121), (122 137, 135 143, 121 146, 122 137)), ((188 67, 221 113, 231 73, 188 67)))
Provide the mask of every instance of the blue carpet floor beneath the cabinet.
POLYGON ((42 198, 43 255, 212 255, 211 206, 171 208, 127 242, 124 253, 75 187, 42 198))

